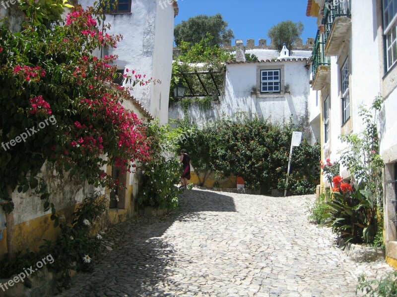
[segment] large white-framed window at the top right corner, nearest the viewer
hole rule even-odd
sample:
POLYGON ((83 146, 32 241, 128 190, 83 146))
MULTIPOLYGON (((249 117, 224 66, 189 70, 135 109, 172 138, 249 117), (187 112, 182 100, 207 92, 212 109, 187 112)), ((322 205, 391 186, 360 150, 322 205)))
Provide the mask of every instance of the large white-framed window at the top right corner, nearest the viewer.
POLYGON ((383 0, 383 34, 386 38, 386 70, 397 61, 397 0, 383 0))

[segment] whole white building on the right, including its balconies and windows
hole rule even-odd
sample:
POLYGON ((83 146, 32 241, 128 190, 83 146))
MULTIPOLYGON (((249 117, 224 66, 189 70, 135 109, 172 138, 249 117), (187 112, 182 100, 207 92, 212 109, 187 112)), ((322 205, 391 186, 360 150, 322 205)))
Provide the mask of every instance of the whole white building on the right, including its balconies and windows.
MULTIPOLYGON (((387 261, 395 267, 397 192, 392 181, 397 179, 396 7, 397 0, 309 0, 306 13, 317 17, 319 25, 312 87, 322 110, 323 160, 339 160, 344 148, 339 136, 364 129, 358 114, 360 106, 371 106, 378 95, 383 98, 378 131, 380 154, 386 163, 384 227, 387 261)), ((349 176, 345 168, 340 174, 349 176)))

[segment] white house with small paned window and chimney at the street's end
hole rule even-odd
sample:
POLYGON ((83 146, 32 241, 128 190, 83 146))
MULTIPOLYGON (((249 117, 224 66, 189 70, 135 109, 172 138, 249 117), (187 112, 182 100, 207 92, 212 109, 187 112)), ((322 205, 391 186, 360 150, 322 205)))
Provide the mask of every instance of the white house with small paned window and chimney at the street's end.
MULTIPOLYGON (((223 93, 211 108, 204 110, 198 104, 188 109, 189 118, 199 125, 236 113, 260 117, 275 123, 288 122, 305 128, 305 138, 314 142, 315 135, 309 123, 311 63, 309 50, 273 49, 244 50, 242 41, 236 41, 236 62, 226 63, 223 93), (246 61, 245 53, 255 54, 259 61, 246 61)), ((169 118, 183 118, 180 103, 169 109, 169 118)))

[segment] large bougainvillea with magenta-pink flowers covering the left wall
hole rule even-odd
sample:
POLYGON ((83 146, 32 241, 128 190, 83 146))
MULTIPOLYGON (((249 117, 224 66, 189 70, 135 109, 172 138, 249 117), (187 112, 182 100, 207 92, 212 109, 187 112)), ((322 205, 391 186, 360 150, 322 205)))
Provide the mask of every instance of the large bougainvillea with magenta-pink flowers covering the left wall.
POLYGON ((22 32, 13 33, 5 24, 0 30, 0 144, 9 148, 0 149, 0 199, 9 201, 7 212, 13 209, 9 193, 15 189, 38 189, 45 208, 54 210, 37 177, 45 162, 95 186, 113 187, 118 181, 102 170, 106 165, 131 171, 135 160, 150 160, 146 127, 122 102, 151 79, 126 69, 122 78, 130 87, 118 86, 113 83, 120 75, 113 65, 117 56, 92 54, 116 48, 122 39, 106 33, 102 6, 76 6, 62 24, 59 0, 54 15, 45 13, 48 1, 28 2, 21 4, 28 16, 22 32), (13 139, 50 115, 56 125, 12 146, 13 139))

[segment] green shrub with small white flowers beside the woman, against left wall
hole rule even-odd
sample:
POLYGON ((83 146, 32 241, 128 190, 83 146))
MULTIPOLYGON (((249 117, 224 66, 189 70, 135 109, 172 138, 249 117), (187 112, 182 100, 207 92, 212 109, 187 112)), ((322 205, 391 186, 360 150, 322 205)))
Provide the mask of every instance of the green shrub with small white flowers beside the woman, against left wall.
POLYGON ((183 190, 175 185, 180 181, 182 165, 169 153, 177 150, 181 131, 171 129, 168 124, 159 126, 158 121, 148 125, 151 159, 141 166, 143 185, 138 196, 139 205, 169 210, 178 207, 178 193, 183 190))

